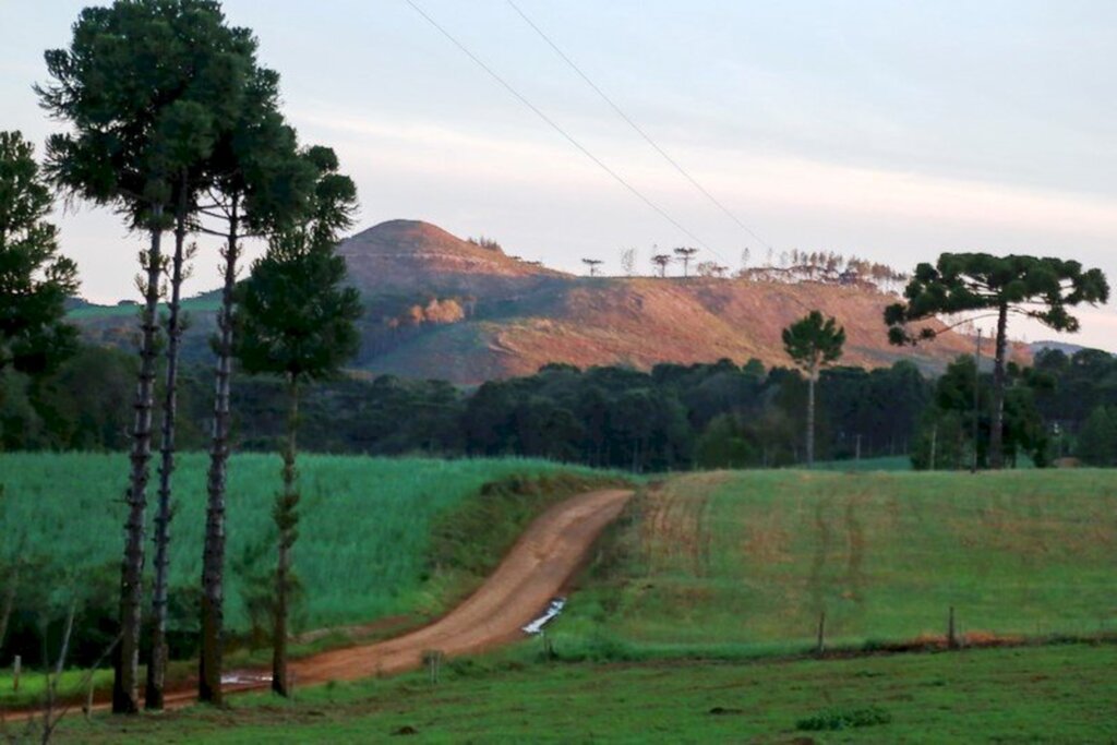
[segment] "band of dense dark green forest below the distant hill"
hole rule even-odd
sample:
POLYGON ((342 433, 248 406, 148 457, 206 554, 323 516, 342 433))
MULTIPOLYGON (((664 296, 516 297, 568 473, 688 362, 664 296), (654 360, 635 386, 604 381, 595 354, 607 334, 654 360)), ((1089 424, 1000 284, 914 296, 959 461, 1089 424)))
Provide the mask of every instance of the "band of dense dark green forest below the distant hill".
MULTIPOLYGON (((3 373, 0 443, 7 450, 124 450, 136 361, 83 347, 51 375, 3 373)), ((201 449, 212 417, 208 367, 183 372, 179 443, 201 449)), ((978 458, 986 457, 992 374, 978 391, 978 458)), ((819 381, 818 457, 910 453, 917 468, 966 468, 973 458, 974 363, 960 357, 928 379, 911 364, 833 367, 819 381)), ((285 384, 238 376, 235 448, 274 451, 284 431, 285 384)), ((442 381, 346 376, 307 391, 303 441, 334 453, 531 456, 636 471, 781 467, 801 462, 806 382, 794 370, 657 365, 537 374, 466 390, 442 381)), ((1038 465, 1076 456, 1117 465, 1117 359, 1085 350, 1040 352, 1010 366, 1010 459, 1038 465)))

